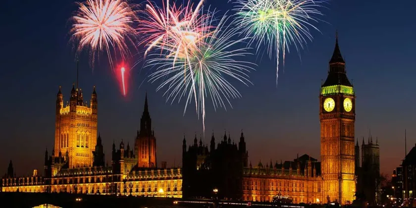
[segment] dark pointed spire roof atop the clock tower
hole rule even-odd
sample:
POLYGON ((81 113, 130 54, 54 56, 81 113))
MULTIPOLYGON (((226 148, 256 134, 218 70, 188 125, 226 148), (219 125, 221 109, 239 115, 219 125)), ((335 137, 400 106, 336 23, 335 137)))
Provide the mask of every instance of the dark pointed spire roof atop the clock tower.
POLYGON ((332 53, 332 57, 329 60, 329 71, 328 77, 321 87, 328 87, 334 85, 343 85, 352 87, 350 81, 348 80, 346 70, 345 70, 345 61, 341 55, 341 51, 338 45, 338 32, 335 39, 335 49, 332 53))

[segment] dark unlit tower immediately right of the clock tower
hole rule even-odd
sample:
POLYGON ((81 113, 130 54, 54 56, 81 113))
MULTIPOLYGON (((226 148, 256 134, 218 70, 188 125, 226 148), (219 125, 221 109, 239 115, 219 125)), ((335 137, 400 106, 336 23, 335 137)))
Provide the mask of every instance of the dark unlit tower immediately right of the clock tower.
MULTIPOLYGON (((355 149, 360 150, 358 140, 355 149)), ((364 143, 363 138, 361 166, 360 157, 356 155, 356 176, 358 196, 365 199, 370 206, 377 206, 381 194, 380 146, 378 145, 378 139, 376 138, 373 142, 371 135, 368 137, 367 144, 364 143)))

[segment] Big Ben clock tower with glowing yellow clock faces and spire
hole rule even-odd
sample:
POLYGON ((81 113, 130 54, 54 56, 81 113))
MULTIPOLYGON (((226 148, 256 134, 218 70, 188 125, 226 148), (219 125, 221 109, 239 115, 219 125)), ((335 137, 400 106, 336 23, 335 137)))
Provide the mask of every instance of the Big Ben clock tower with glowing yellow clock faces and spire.
POLYGON ((336 37, 328 77, 319 95, 324 195, 331 202, 353 202, 355 183, 355 92, 345 70, 336 37))

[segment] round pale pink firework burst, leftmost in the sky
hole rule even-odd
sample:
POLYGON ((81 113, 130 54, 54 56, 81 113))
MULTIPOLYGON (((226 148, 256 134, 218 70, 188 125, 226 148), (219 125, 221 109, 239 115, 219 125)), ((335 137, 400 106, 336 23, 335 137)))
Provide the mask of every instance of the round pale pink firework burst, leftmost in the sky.
POLYGON ((94 64, 98 52, 105 51, 111 68, 111 48, 123 59, 130 55, 126 42, 132 42, 132 25, 137 18, 133 4, 127 0, 86 0, 78 2, 78 5, 70 31, 72 39, 79 42, 78 52, 89 48, 91 63, 94 64))

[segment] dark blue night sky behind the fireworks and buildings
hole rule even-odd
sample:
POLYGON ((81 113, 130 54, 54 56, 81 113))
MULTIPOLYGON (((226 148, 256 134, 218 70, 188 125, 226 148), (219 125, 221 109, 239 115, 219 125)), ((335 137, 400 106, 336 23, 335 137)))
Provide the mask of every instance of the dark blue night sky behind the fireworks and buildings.
MULTIPOLYGON (((157 0, 160 1, 160 0, 157 0)), ((222 12, 230 4, 207 0, 222 12)), ((335 30, 347 62, 347 75, 357 93, 356 137, 368 136, 380 143, 381 171, 391 173, 404 157, 404 129, 408 150, 416 142, 415 97, 415 13, 416 1, 333 0, 322 9, 316 24, 321 33, 314 37, 301 58, 291 48, 285 71, 275 86, 274 60, 257 60, 257 71, 250 73, 253 86, 236 84, 243 98, 232 100, 234 108, 215 112, 207 108, 207 139, 214 130, 220 138, 226 129, 238 140, 244 130, 249 160, 288 160, 299 154, 319 159, 319 87, 327 75, 335 44, 335 30)), ((0 173, 13 160, 17 175, 43 167, 45 148, 54 140, 55 99, 62 86, 65 101, 76 80, 75 54, 69 44, 69 23, 76 5, 72 0, 2 2, 0 50, 0 173)), ((157 159, 176 164, 181 160, 185 133, 188 142, 195 132, 202 134, 202 121, 194 108, 182 115, 184 103, 165 103, 163 92, 146 81, 146 69, 131 72, 133 85, 123 98, 105 56, 95 66, 88 56, 81 57, 80 87, 85 100, 93 85, 99 99, 99 125, 109 159, 112 141, 134 142, 148 92, 150 112, 157 139, 157 159), (140 84, 143 85, 140 86, 140 84), (139 87, 140 86, 140 87, 139 87)), ((256 61, 255 56, 251 57, 256 61)), ((365 140, 366 140, 365 138, 365 140)))

